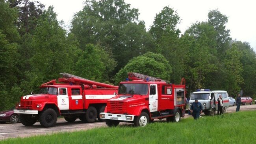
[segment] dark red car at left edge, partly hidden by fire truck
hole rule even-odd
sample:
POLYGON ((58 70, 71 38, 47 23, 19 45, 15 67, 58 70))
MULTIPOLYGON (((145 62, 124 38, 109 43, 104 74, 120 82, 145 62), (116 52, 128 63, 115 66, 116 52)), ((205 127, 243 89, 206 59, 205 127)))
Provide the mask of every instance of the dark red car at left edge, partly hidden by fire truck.
POLYGON ((6 122, 17 123, 20 121, 19 114, 14 113, 13 109, 15 109, 15 107, 0 111, 0 124, 5 124, 6 122))

